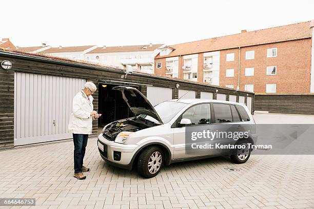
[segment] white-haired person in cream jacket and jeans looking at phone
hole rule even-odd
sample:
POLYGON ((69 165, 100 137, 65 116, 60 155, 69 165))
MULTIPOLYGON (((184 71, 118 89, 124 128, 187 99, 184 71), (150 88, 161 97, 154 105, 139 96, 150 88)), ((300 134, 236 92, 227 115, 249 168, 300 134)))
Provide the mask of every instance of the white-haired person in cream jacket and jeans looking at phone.
POLYGON ((96 86, 92 82, 86 82, 82 91, 73 98, 72 114, 69 120, 69 132, 73 134, 74 142, 74 177, 85 179, 83 172, 89 168, 83 166, 83 159, 87 145, 88 135, 92 132, 92 120, 99 118, 100 114, 94 111, 93 97, 96 86))

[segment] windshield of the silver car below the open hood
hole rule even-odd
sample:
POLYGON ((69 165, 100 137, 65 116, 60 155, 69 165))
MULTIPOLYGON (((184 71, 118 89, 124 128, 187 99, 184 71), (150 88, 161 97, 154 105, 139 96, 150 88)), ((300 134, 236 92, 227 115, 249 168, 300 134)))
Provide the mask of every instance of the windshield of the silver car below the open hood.
POLYGON ((187 103, 164 101, 154 107, 163 123, 169 122, 182 108, 187 106, 187 103))

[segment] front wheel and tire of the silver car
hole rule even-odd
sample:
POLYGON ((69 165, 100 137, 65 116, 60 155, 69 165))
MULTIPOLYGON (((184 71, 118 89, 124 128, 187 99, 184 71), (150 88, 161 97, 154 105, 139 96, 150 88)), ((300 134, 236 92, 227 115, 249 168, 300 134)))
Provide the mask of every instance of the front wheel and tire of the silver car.
POLYGON ((164 161, 164 154, 160 147, 144 148, 139 156, 138 173, 145 178, 152 178, 156 176, 164 161))

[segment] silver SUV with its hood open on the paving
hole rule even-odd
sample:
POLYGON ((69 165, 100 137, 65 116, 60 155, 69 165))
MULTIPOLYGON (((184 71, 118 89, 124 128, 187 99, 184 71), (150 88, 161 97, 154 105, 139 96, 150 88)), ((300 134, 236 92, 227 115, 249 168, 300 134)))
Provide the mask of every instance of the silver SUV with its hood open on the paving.
MULTIPOLYGON (((244 163, 250 156, 249 144, 256 143, 255 122, 242 103, 172 99, 153 107, 135 88, 119 86, 113 89, 122 92, 135 117, 107 124, 98 137, 97 145, 101 157, 119 168, 131 170, 134 164, 140 175, 151 178, 160 172, 163 165, 178 161, 228 155, 233 162, 244 163), (205 127, 207 130, 223 130, 226 124, 242 130, 247 129, 243 128, 245 125, 250 127, 248 137, 231 141, 232 145, 242 144, 244 147, 188 152, 191 148, 189 142, 193 141, 187 140, 187 133, 205 127)), ((226 144, 226 140, 219 140, 222 139, 215 142, 226 144)))

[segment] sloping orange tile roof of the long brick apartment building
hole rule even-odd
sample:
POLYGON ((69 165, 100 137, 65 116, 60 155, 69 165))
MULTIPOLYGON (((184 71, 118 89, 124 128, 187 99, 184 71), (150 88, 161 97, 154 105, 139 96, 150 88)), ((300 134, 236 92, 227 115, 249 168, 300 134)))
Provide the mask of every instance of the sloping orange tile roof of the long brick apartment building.
POLYGON ((277 43, 281 41, 310 38, 311 36, 310 22, 308 21, 171 45, 169 47, 172 47, 175 50, 165 56, 157 55, 156 58, 277 43))

